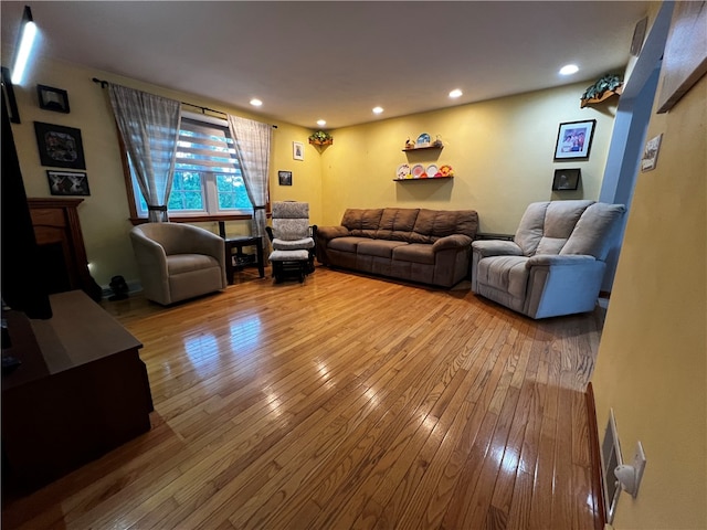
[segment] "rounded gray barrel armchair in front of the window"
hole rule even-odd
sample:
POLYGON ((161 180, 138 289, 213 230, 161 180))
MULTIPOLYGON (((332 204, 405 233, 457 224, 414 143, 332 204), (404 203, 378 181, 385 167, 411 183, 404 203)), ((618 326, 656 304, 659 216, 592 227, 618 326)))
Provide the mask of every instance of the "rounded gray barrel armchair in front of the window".
POLYGON ((208 230, 179 223, 146 223, 130 231, 145 297, 158 304, 224 289, 225 247, 208 230))

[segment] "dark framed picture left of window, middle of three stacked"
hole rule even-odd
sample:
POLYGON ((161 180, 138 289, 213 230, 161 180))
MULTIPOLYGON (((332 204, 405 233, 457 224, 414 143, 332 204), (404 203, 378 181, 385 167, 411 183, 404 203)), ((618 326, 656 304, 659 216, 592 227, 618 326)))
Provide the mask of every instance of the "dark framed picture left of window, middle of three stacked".
POLYGON ((34 121, 34 134, 42 166, 86 169, 80 129, 34 121))

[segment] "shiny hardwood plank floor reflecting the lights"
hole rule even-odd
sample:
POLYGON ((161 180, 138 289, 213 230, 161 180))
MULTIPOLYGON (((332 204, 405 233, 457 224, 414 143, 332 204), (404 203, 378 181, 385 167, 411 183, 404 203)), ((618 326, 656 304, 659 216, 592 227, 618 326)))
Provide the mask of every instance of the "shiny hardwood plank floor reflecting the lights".
POLYGON ((4 529, 594 528, 600 309, 532 321, 324 267, 105 308, 145 344, 154 427, 4 529))

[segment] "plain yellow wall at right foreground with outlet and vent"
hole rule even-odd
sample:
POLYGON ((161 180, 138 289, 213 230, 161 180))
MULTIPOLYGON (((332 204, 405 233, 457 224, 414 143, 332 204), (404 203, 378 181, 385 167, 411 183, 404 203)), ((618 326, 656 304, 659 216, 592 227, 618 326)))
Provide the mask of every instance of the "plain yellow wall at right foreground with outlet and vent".
POLYGON ((707 76, 668 114, 639 174, 593 374, 600 436, 614 409, 624 459, 643 443, 636 499, 614 528, 707 528, 707 76))

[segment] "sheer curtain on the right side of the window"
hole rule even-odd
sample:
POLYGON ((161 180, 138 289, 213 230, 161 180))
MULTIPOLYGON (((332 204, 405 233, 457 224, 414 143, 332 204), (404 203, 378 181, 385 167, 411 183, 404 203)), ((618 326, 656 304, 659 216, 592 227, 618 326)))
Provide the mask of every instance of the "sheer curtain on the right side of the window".
POLYGON ((238 116, 229 116, 229 127, 235 142, 235 151, 241 160, 245 190, 253 204, 253 235, 260 235, 264 246, 267 246, 265 206, 267 205, 270 144, 273 129, 267 124, 238 116))

